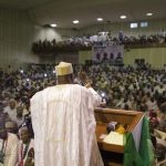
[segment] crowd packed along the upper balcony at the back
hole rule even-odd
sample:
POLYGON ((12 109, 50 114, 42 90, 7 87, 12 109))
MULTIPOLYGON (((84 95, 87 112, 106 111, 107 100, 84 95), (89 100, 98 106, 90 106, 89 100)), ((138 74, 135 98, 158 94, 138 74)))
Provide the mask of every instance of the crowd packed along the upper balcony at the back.
POLYGON ((120 32, 118 37, 112 37, 108 32, 101 32, 94 35, 76 35, 76 37, 65 37, 61 41, 53 39, 52 41, 37 41, 32 44, 32 51, 34 53, 51 53, 55 50, 83 50, 90 49, 94 45, 117 45, 124 44, 125 48, 139 45, 139 46, 153 46, 157 44, 166 43, 166 34, 151 34, 151 35, 125 35, 120 32))

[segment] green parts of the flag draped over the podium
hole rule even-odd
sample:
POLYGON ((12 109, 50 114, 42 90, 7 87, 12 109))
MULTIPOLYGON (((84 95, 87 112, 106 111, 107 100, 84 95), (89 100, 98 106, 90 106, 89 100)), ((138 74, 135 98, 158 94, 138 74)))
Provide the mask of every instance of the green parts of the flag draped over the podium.
POLYGON ((148 121, 143 118, 139 152, 136 151, 133 134, 126 134, 126 144, 124 147, 124 166, 152 166, 154 154, 152 149, 148 121))

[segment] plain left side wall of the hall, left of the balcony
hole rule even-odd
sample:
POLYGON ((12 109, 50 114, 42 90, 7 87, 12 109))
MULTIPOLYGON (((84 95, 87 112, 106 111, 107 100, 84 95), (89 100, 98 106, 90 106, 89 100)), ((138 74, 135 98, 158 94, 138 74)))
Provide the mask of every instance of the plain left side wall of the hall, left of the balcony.
POLYGON ((39 56, 31 52, 34 25, 25 12, 0 9, 0 68, 39 63, 39 56))

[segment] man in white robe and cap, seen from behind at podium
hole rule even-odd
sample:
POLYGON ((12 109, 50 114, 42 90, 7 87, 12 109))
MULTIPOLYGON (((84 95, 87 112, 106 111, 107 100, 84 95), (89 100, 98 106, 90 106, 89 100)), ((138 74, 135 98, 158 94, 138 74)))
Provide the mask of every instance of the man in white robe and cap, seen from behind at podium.
POLYGON ((31 98, 35 166, 103 166, 94 118, 102 98, 92 87, 72 84, 71 63, 55 71, 59 85, 31 98))

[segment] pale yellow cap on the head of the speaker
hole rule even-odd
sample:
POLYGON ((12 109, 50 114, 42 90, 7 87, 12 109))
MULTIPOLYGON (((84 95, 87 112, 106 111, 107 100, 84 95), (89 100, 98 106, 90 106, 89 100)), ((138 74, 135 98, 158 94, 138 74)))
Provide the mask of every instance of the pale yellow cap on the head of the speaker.
POLYGON ((73 73, 73 68, 71 63, 60 62, 59 65, 55 66, 56 75, 68 75, 73 73))

